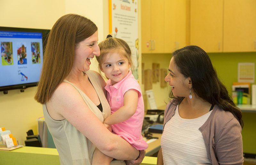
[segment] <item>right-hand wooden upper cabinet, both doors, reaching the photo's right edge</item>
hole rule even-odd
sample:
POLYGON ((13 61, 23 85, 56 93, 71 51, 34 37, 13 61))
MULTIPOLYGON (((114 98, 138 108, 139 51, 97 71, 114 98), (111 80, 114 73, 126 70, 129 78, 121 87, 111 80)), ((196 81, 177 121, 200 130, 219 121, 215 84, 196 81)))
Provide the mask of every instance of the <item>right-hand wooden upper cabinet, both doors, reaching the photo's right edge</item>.
POLYGON ((206 52, 256 51, 256 0, 191 0, 190 44, 206 52))

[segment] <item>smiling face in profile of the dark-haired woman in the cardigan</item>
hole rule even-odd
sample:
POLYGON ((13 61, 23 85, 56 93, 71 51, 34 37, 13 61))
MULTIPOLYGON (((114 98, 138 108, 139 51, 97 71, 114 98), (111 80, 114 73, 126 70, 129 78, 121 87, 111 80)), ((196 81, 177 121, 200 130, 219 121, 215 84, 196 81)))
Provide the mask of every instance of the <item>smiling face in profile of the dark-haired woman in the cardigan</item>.
POLYGON ((189 96, 189 88, 191 88, 190 78, 185 78, 182 75, 175 62, 172 58, 170 61, 169 74, 164 78, 166 82, 172 87, 172 93, 175 97, 188 97, 189 96))

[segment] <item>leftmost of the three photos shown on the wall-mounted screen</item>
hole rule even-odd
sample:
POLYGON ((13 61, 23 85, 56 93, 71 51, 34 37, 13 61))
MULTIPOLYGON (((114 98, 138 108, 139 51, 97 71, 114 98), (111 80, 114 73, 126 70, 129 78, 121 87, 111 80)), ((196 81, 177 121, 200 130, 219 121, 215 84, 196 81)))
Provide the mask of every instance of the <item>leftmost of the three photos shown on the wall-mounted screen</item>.
POLYGON ((1 42, 2 65, 13 65, 12 42, 1 42))

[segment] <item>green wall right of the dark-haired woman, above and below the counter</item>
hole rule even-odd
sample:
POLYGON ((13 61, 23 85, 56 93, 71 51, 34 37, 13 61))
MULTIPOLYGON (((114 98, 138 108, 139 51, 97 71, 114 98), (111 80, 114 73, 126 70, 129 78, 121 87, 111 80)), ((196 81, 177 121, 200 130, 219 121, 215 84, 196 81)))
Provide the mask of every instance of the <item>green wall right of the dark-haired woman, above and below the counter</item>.
MULTIPOLYGON (((221 81, 224 83, 224 85, 226 85, 230 95, 232 83, 237 82, 238 63, 256 63, 256 52, 208 53, 208 55, 212 60, 212 64, 215 67, 221 81)), ((242 136, 244 153, 256 154, 256 112, 243 113, 243 120, 244 128, 242 130, 242 136)))

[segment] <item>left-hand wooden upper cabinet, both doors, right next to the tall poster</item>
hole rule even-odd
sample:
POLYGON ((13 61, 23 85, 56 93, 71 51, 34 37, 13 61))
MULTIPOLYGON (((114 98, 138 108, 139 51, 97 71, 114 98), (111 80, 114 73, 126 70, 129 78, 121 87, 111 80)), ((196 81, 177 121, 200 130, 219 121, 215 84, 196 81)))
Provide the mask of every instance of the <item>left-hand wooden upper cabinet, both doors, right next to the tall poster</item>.
POLYGON ((186 45, 187 0, 141 1, 142 53, 172 53, 186 45))

